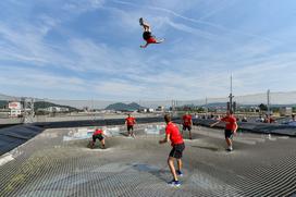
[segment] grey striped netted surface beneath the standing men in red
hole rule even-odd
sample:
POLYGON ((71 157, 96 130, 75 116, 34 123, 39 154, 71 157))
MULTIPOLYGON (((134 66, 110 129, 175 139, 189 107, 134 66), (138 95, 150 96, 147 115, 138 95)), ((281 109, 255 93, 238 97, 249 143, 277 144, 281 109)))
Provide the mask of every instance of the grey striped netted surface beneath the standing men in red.
POLYGON ((135 130, 134 139, 109 126, 107 149, 87 147, 90 128, 46 130, 0 157, 0 196, 295 195, 296 138, 239 133, 227 152, 222 130, 194 126, 175 188, 166 184, 170 144, 158 144, 163 124, 135 130))

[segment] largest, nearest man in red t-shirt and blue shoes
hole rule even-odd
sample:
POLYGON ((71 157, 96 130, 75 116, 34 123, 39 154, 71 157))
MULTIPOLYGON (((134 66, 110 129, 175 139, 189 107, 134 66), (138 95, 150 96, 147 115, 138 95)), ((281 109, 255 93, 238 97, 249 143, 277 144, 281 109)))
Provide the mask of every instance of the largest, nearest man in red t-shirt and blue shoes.
POLYGON ((164 121, 166 123, 165 138, 159 140, 159 144, 164 144, 171 140, 171 145, 173 148, 169 155, 168 164, 174 178, 171 182, 169 182, 169 184, 172 186, 180 186, 181 183, 177 180, 177 175, 183 176, 183 173, 181 172, 182 169, 181 158, 183 155, 183 150, 185 149, 185 144, 183 141, 182 135, 180 134, 177 125, 172 123, 171 116, 169 114, 164 115, 164 121), (176 159, 177 161, 177 171, 175 171, 174 159, 176 159))

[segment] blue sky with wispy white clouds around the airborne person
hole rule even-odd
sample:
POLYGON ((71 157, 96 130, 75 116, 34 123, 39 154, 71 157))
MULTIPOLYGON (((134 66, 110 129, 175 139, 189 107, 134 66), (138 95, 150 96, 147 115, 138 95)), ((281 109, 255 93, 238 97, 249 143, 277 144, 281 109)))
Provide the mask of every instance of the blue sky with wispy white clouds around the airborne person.
POLYGON ((0 93, 161 100, 295 90, 294 0, 2 0, 0 93), (144 44, 138 19, 161 45, 144 44))

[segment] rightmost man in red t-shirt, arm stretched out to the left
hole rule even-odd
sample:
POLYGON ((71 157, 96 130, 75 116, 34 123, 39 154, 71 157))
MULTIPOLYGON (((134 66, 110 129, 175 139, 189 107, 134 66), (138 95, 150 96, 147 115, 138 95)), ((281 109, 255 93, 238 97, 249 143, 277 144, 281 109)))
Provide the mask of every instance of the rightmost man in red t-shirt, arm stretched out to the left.
POLYGON ((233 134, 235 135, 236 134, 236 131, 237 131, 237 123, 236 123, 236 119, 235 116, 233 115, 233 112, 232 111, 227 111, 226 112, 226 116, 220 119, 218 122, 211 124, 210 126, 214 126, 215 124, 220 123, 220 122, 225 122, 225 140, 226 140, 226 144, 229 146, 229 148, 226 150, 229 151, 232 151, 233 148, 232 148, 232 137, 233 137, 233 134))

